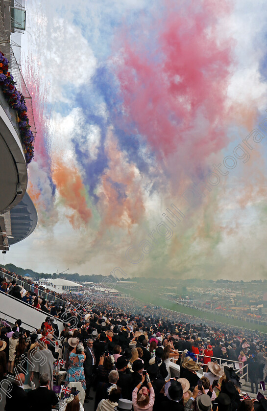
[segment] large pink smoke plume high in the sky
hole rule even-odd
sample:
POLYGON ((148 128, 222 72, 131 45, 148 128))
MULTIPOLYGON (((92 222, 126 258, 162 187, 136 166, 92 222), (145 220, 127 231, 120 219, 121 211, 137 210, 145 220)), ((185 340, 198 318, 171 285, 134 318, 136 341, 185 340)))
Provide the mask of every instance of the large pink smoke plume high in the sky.
POLYGON ((202 1, 189 5, 185 16, 175 4, 168 1, 162 20, 140 29, 137 39, 131 41, 127 29, 117 39, 123 51, 116 71, 128 121, 158 156, 183 146, 180 160, 188 151, 188 160, 199 162, 227 141, 232 43, 218 38, 216 24, 229 7, 202 1))

